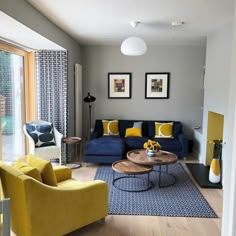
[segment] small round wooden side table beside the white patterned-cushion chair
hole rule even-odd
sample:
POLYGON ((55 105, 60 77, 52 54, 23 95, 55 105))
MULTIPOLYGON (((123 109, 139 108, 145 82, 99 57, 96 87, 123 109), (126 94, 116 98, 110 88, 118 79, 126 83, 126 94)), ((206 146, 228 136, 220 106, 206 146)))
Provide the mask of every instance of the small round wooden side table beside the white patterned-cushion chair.
POLYGON ((80 143, 82 141, 82 138, 80 137, 65 137, 62 138, 62 143, 65 143, 67 145, 75 145, 75 156, 78 158, 78 149, 79 149, 79 163, 66 163, 65 165, 70 167, 71 169, 76 169, 81 167, 81 153, 80 153, 80 143), (78 148, 79 147, 79 148, 78 148))

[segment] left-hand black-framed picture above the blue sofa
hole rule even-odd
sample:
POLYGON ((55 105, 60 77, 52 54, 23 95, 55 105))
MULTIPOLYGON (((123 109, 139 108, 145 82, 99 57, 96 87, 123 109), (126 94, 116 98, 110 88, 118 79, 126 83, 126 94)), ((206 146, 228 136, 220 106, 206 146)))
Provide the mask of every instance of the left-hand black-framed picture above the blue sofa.
POLYGON ((108 73, 108 98, 131 98, 131 73, 108 73))

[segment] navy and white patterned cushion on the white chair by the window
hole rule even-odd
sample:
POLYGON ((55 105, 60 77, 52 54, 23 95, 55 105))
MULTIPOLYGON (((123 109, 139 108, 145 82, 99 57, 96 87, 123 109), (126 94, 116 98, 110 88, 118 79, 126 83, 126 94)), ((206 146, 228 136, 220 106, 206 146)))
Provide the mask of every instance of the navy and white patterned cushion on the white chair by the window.
POLYGON ((28 134, 34 139, 36 147, 56 145, 52 124, 30 124, 26 123, 28 134))

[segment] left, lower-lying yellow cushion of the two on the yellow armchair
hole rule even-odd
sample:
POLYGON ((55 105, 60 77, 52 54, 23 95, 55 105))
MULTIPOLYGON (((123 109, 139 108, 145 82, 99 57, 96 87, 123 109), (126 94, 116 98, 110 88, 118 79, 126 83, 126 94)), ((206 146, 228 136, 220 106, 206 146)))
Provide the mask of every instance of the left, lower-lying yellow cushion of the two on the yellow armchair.
POLYGON ((29 166, 26 162, 21 160, 16 160, 12 166, 20 171, 22 171, 25 175, 28 175, 40 182, 42 182, 41 175, 38 171, 38 169, 29 166))

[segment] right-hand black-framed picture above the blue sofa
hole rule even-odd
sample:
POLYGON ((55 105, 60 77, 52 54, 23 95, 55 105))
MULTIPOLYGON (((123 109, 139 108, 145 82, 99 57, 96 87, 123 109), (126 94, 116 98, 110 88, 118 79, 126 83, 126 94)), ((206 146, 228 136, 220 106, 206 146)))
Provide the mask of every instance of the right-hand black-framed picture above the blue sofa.
POLYGON ((165 99, 169 98, 170 73, 146 73, 145 74, 145 98, 165 99))

